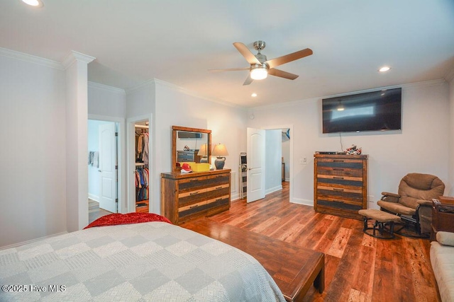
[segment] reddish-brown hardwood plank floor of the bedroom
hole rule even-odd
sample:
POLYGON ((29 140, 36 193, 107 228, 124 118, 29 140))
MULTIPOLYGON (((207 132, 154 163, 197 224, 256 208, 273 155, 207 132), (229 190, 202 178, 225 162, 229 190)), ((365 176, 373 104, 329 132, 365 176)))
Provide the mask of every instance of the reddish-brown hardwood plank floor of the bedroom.
POLYGON ((441 301, 429 260, 430 241, 362 233, 362 221, 316 213, 289 203, 284 189, 209 219, 325 253, 325 291, 304 301, 441 301))

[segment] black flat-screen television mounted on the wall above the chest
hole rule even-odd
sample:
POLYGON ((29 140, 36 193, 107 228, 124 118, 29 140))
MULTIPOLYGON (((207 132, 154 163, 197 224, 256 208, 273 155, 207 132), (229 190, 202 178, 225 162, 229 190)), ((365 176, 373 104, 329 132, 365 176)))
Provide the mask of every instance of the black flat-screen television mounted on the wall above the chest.
POLYGON ((402 88, 321 100, 323 133, 399 130, 402 88))

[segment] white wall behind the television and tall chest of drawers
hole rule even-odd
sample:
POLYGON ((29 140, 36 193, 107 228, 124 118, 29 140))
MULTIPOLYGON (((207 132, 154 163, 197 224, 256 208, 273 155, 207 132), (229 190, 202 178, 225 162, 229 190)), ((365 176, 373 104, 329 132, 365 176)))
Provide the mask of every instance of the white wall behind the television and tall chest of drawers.
MULTIPOLYGON (((343 149, 352 144, 369 155, 369 192, 376 207, 382 191, 397 192, 406 173, 437 175, 448 185, 449 97, 445 81, 402 86, 402 132, 342 134, 343 149)), ((338 134, 321 133, 321 98, 250 110, 255 115, 248 127, 267 128, 272 124, 294 124, 294 200, 314 204, 315 151, 341 151, 338 134), (308 158, 302 165, 299 158, 308 158)))

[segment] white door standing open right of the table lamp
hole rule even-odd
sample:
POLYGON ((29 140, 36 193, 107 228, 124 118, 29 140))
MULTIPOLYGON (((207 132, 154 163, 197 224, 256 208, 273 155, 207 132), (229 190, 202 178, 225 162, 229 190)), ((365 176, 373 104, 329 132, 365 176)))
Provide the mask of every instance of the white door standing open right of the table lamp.
POLYGON ((248 128, 248 202, 265 198, 265 130, 248 128))

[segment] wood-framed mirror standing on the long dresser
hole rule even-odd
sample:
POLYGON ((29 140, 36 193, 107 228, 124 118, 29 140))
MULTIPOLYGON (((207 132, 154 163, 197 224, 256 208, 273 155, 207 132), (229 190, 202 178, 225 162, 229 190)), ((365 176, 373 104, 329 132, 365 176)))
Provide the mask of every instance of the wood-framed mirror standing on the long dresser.
POLYGON ((177 163, 210 163, 211 130, 172 126, 172 171, 177 163))

